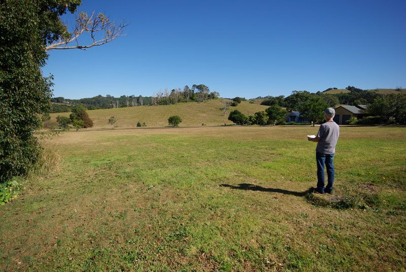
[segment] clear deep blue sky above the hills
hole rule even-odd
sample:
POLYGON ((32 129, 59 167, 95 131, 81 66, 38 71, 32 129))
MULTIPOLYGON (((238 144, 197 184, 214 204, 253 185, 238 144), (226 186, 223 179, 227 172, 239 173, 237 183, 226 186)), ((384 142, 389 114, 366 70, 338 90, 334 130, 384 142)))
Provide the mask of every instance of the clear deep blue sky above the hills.
POLYGON ((43 71, 55 77, 54 96, 149 96, 192 84, 247 98, 406 87, 404 0, 82 3, 80 11, 125 17, 128 35, 50 51, 43 71))

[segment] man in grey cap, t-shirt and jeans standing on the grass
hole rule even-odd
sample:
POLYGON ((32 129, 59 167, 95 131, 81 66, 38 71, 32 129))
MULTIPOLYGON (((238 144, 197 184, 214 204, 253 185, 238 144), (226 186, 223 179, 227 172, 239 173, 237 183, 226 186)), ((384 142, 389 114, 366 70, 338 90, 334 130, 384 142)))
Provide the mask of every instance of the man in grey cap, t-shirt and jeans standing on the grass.
POLYGON ((309 141, 317 142, 316 162, 317 162, 317 187, 313 188, 315 193, 332 193, 334 183, 334 165, 335 145, 340 136, 340 127, 334 121, 335 110, 328 108, 324 110, 324 119, 326 122, 320 125, 316 138, 308 137, 309 141), (328 183, 324 188, 324 164, 327 169, 328 183))

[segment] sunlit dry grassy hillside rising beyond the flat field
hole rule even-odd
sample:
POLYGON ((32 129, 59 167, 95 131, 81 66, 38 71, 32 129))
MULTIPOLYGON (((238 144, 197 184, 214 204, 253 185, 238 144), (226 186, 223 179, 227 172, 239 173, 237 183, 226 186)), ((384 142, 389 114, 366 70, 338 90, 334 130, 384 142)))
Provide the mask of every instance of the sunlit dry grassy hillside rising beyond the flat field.
MULTIPOLYGON (((118 109, 104 109, 87 111, 90 119, 94 122, 94 128, 110 128, 108 119, 114 116, 117 122, 114 124, 118 128, 135 127, 137 122, 145 122, 148 127, 167 126, 167 119, 171 115, 179 115, 182 118, 180 126, 201 126, 205 125, 224 125, 232 124, 228 121, 230 111, 239 110, 244 114, 254 114, 257 111, 265 110, 267 106, 250 104, 249 101, 242 101, 237 107, 228 107, 224 116, 222 101, 224 99, 208 100, 205 103, 179 103, 176 105, 165 106, 139 106, 118 109)), ((56 127, 56 117, 69 116, 70 113, 53 113, 51 119, 44 123, 45 128, 56 127)))

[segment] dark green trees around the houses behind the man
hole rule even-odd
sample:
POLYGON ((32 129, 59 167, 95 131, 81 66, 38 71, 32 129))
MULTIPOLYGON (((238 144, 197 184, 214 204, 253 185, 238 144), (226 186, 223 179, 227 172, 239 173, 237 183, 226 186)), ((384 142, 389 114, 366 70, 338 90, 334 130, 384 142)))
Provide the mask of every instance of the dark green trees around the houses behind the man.
MULTIPOLYGON (((326 91, 336 88, 329 88, 326 91)), ((238 114, 236 124, 283 124, 282 117, 279 120, 273 118, 269 111, 279 111, 281 107, 287 112, 298 111, 300 116, 316 123, 323 122, 323 110, 337 105, 359 106, 366 105, 366 116, 362 119, 352 118, 348 124, 405 124, 406 123, 406 95, 402 93, 379 94, 348 86, 348 93, 311 93, 308 91, 293 91, 285 97, 267 96, 261 105, 270 106, 264 113, 256 113, 254 116, 242 116, 238 114), (270 110, 272 108, 272 110, 270 110), (266 119, 266 116, 268 119, 266 119), (241 120, 244 119, 244 122, 241 120), (266 121, 266 122, 265 122, 266 121)), ((235 113, 234 113, 235 114, 235 113)), ((281 115, 282 116, 282 115, 281 115)), ((231 119, 229 119, 231 120, 231 119)), ((233 121, 233 120, 231 120, 233 121)), ((234 121, 233 121, 234 122, 234 121)))

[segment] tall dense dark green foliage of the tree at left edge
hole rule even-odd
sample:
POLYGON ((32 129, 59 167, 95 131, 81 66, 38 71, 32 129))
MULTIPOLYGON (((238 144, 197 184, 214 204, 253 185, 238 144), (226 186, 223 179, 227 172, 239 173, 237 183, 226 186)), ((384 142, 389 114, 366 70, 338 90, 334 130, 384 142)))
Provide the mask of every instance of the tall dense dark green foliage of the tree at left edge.
POLYGON ((49 110, 51 79, 44 78, 45 46, 64 31, 60 15, 79 0, 0 2, 0 182, 27 173, 41 148, 33 132, 49 110))

